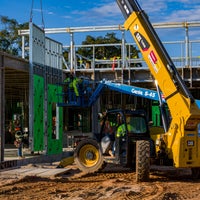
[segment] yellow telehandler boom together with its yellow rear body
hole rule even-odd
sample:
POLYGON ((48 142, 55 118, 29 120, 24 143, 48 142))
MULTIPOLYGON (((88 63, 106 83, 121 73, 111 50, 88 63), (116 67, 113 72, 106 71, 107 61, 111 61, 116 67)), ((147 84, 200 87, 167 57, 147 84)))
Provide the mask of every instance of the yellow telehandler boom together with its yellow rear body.
POLYGON ((200 110, 138 2, 117 3, 126 19, 124 26, 136 41, 171 113, 163 138, 168 157, 175 167, 198 167, 200 171, 200 110))

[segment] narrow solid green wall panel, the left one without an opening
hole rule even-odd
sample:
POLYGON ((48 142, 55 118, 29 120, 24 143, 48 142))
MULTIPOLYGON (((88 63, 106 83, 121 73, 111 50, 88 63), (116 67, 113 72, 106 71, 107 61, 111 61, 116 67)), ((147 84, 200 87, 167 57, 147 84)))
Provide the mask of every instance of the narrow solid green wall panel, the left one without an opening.
POLYGON ((34 151, 44 150, 44 78, 38 75, 33 77, 34 84, 34 120, 33 139, 34 151))

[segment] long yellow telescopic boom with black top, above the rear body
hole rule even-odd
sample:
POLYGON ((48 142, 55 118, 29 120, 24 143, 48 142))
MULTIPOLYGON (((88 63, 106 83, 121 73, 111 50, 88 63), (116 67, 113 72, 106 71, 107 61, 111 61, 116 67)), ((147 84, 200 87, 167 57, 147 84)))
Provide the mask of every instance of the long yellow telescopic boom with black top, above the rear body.
MULTIPOLYGON (((168 106, 171 106, 170 110, 173 112, 174 107, 177 107, 174 104, 179 102, 180 107, 184 107, 183 109, 189 114, 190 104, 194 102, 194 98, 181 79, 147 15, 136 0, 117 0, 117 3, 127 19, 124 26, 132 33, 152 75, 158 81, 168 106)), ((174 115, 177 113, 175 112, 174 115)))

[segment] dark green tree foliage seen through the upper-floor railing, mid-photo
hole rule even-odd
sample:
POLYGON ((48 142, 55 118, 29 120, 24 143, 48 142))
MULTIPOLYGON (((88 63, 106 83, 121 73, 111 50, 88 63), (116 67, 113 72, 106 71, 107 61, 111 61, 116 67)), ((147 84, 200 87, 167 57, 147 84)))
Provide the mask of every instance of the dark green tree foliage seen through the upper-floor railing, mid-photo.
MULTIPOLYGON (((76 54, 80 55, 78 57, 78 62, 80 62, 80 64, 86 63, 86 65, 90 65, 93 57, 94 59, 99 60, 112 60, 114 58, 121 58, 121 43, 122 40, 118 39, 115 33, 107 33, 104 37, 93 37, 91 35, 87 35, 86 39, 82 42, 83 46, 77 48, 76 50, 76 54), (79 58, 81 59, 79 60, 79 58)), ((139 58, 139 52, 140 51, 135 46, 127 45, 125 56, 128 58, 139 58)), ((68 51, 65 51, 63 56, 65 60, 69 61, 68 51)), ((133 64, 133 66, 136 65, 137 64, 133 64)))

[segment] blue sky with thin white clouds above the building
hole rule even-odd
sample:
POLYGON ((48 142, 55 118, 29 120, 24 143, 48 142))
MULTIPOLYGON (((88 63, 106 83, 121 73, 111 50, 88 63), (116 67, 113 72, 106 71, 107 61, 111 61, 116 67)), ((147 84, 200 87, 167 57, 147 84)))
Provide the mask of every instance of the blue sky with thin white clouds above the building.
MULTIPOLYGON (((0 15, 24 23, 30 21, 32 13, 33 23, 41 26, 43 19, 45 28, 106 26, 124 23, 123 15, 115 0, 0 0, 0 2, 0 15)), ((199 0, 138 0, 138 3, 148 14, 152 23, 200 22, 199 0)), ((167 36, 172 35, 169 34, 170 31, 172 30, 161 32, 161 39, 168 40, 167 36)), ((178 40, 178 36, 184 39, 184 31, 181 31, 176 30, 178 34, 175 34, 173 39, 178 40)), ((105 35, 104 33, 92 34, 105 35)), ((77 33, 75 43, 81 43, 86 35, 92 34, 77 33)), ((194 28, 190 34, 200 39, 200 27, 194 28)), ((67 34, 52 35, 52 38, 62 42, 63 45, 69 45, 70 40, 67 34)))

